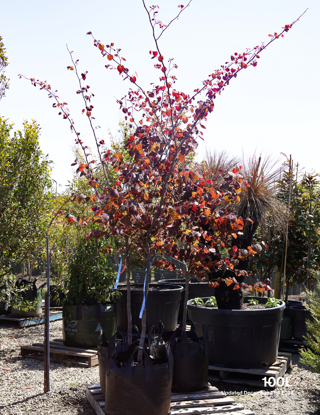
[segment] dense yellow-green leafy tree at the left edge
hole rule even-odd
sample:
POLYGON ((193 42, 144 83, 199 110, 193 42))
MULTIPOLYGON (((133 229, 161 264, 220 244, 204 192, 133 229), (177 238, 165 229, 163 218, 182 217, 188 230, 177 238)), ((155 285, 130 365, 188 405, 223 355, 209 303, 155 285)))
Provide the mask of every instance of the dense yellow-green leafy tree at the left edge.
POLYGON ((50 162, 39 147, 39 125, 0 117, 0 278, 37 251, 52 207, 50 162))

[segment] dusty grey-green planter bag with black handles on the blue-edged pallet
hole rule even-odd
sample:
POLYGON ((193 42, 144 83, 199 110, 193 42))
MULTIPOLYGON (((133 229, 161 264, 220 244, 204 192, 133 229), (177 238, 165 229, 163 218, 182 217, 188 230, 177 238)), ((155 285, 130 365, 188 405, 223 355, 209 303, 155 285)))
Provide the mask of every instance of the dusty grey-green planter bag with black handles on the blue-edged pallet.
POLYGON ((21 278, 18 278, 15 284, 17 288, 24 288, 26 286, 29 287, 29 290, 22 291, 20 296, 26 301, 36 301, 36 304, 28 311, 23 311, 22 309, 19 310, 18 307, 11 307, 11 314, 19 317, 37 317, 42 315, 41 289, 36 286, 38 278, 34 278, 33 281, 21 280, 19 282, 20 279, 21 278))

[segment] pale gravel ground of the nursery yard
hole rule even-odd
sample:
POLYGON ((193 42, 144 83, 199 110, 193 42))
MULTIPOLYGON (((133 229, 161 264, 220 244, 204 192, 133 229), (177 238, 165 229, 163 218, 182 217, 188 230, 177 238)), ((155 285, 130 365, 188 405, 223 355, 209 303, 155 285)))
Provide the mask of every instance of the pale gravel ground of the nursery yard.
MULTIPOLYGON (((50 323, 50 340, 62 337, 62 320, 50 323)), ((85 398, 87 384, 99 383, 99 366, 83 368, 50 363, 50 387, 43 393, 44 362, 20 356, 20 345, 44 341, 44 325, 13 329, 0 326, 0 414, 26 413, 94 415, 85 398)), ((220 391, 233 394, 235 400, 256 415, 320 415, 320 375, 299 363, 292 355, 292 369, 286 375, 290 388, 260 390, 213 382, 220 391), (247 393, 247 394, 245 394, 247 393)), ((144 414, 142 414, 144 415, 144 414)))

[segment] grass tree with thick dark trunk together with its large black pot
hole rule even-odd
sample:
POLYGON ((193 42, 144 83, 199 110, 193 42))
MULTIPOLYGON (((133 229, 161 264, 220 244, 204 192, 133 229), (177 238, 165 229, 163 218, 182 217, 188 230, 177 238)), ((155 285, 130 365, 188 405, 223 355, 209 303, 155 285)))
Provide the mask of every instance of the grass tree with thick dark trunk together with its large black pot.
MULTIPOLYGON (((234 169, 234 174, 236 172, 237 169, 234 169)), ((215 278, 215 270, 209 274, 212 278, 209 284, 215 286, 217 308, 192 305, 191 301, 188 303, 188 315, 195 323, 199 334, 201 334, 203 324, 209 325, 209 363, 220 367, 249 368, 272 364, 278 352, 280 325, 285 308, 283 303, 274 308, 251 310, 246 304, 249 298, 243 296, 242 288, 249 287, 251 291, 255 289, 258 292, 270 290, 270 287, 262 281, 256 282, 254 287, 244 283, 244 278, 248 276, 250 257, 261 251, 261 245, 253 244, 252 239, 258 225, 264 220, 266 212, 269 214, 271 212, 270 216, 276 224, 284 228, 283 205, 274 198, 272 193, 273 177, 276 172, 268 174, 268 159, 261 162, 260 157, 259 159, 253 157, 249 165, 244 167, 244 174, 247 181, 240 193, 242 196, 238 200, 237 232, 231 240, 229 250, 229 261, 235 264, 236 271, 225 266, 225 262, 220 267, 220 269, 225 269, 223 278, 215 278), (242 220, 242 217, 247 219, 242 220), (255 330, 250 327, 255 327, 255 330), (233 339, 232 346, 230 339, 233 339), (259 355, 255 355, 256 344, 259 344, 259 355), (244 348, 248 353, 248 358, 242 356, 242 359, 233 359, 227 352, 224 352, 230 351, 230 347, 234 350, 244 348), (252 358, 249 359, 249 356, 252 358)), ((226 179, 227 182, 230 181, 230 178, 226 179)), ((220 189, 224 187, 224 184, 219 186, 220 189)), ((212 220, 208 220, 207 229, 214 231, 215 224, 212 220)), ((228 237, 228 232, 230 231, 226 229, 225 237, 228 237)), ((221 263, 220 255, 217 255, 219 244, 215 248, 215 258, 221 263)), ((214 257, 212 259, 214 260, 214 257)), ((203 301, 205 302, 205 298, 203 301)), ((266 299, 259 298, 259 301, 264 302, 266 299)))

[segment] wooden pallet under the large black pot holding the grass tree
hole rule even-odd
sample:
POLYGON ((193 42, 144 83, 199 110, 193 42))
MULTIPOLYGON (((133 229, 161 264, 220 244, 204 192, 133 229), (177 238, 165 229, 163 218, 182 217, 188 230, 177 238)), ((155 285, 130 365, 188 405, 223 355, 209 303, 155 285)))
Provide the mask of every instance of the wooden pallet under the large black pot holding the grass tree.
MULTIPOLYGON (((283 377, 286 371, 291 367, 291 353, 278 353, 277 360, 271 366, 264 366, 255 369, 234 369, 222 368, 209 365, 209 382, 225 382, 234 385, 249 385, 264 387, 264 381, 261 379, 266 376, 266 381, 270 377, 283 377), (217 373, 218 372, 218 373, 217 373), (232 376, 233 375, 233 376, 232 376), (231 377, 230 377, 231 376, 231 377)), ((277 387, 277 383, 271 389, 277 387)), ((268 386, 269 388, 269 386, 268 386)))

